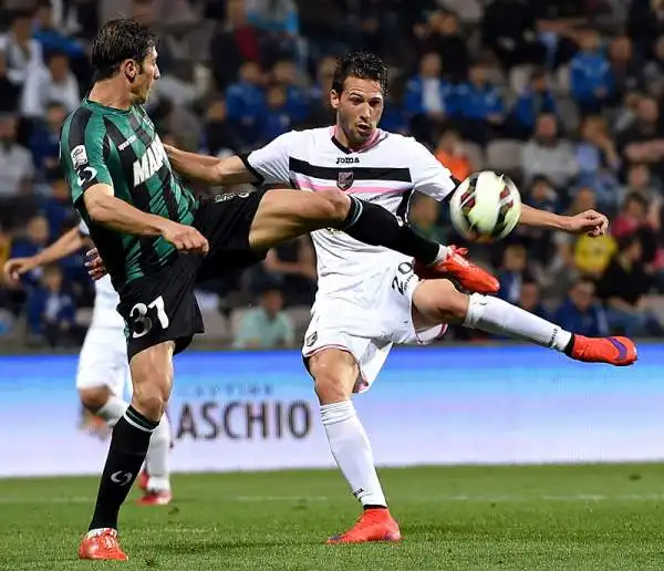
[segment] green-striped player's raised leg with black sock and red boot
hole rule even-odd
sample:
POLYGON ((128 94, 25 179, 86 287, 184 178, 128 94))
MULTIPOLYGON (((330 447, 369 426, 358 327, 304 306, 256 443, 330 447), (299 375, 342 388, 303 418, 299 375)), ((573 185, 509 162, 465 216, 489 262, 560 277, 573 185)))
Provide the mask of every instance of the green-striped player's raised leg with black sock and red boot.
POLYGON ((249 243, 266 250, 322 228, 411 256, 430 276, 453 276, 470 291, 496 293, 500 287, 494 276, 465 259, 465 250, 433 242, 384 208, 341 191, 269 190, 255 215, 249 243))

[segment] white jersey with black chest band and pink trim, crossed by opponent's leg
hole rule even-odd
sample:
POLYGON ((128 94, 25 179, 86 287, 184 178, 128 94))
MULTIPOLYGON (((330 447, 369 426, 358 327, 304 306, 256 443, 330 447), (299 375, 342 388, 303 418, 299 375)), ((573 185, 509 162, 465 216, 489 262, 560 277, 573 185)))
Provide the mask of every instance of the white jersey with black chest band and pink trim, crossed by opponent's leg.
MULTIPOLYGON (((382 129, 360 149, 344 147, 334 127, 286 133, 247 157, 262 183, 309 191, 343 190, 406 220, 413 191, 443 200, 455 188, 452 174, 414 138, 382 129)), ((365 278, 407 258, 367 246, 338 230, 312 232, 321 297, 336 297, 365 278)))

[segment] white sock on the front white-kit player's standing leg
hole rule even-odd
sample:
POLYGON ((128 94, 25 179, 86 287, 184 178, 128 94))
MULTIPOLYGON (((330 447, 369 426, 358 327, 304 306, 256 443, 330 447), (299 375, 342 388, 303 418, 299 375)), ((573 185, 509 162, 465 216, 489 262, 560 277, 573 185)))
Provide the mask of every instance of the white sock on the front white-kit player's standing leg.
POLYGON ((363 506, 387 506, 373 464, 369 437, 351 401, 321 405, 330 450, 363 506))

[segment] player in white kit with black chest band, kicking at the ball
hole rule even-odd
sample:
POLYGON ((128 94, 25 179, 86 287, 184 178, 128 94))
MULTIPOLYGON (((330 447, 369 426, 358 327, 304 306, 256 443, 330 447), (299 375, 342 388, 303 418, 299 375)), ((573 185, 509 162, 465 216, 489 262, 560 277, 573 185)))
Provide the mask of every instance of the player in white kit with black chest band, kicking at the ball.
MULTIPOLYGON (((377 128, 386 83, 380 59, 350 54, 340 61, 330 94, 336 110, 334 126, 287 133, 247 157, 218 159, 173 147, 166 150, 177 170, 208 184, 289 185, 314 193, 342 189, 405 221, 413 191, 445 200, 458 181, 415 139, 377 128)), ((527 206, 520 222, 594 236, 608 228, 606 218, 594 210, 564 217, 527 206)), ((414 271, 411 259, 343 232, 319 230, 312 238, 319 290, 302 354, 314 378, 332 455, 364 507, 357 523, 329 542, 401 539, 351 401, 353 393, 371 386, 393 343, 429 343, 447 324, 461 323, 564 352, 577 361, 613 365, 636 361, 636 347, 629 339, 575 335, 477 292, 481 290, 467 294, 446 279, 422 279, 429 276, 425 269, 414 271)))

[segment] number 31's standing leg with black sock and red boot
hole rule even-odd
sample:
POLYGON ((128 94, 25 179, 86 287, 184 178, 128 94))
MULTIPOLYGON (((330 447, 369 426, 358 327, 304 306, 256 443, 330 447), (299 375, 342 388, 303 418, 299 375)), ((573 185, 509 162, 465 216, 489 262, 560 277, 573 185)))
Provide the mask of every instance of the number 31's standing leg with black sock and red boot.
POLYGON ((174 343, 167 341, 131 361, 132 403, 113 428, 90 530, 79 548, 81 559, 127 559, 117 541, 117 516, 164 414, 173 382, 173 350, 174 343))

